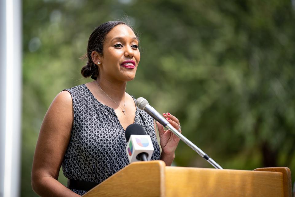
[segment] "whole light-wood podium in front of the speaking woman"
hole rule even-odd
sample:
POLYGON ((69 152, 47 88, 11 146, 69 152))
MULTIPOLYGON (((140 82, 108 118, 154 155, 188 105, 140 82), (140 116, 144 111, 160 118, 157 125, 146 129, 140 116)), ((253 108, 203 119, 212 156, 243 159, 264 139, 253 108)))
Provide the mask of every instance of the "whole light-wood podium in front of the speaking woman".
POLYGON ((134 162, 83 196, 291 197, 291 172, 287 167, 246 171, 166 167, 163 161, 134 162))

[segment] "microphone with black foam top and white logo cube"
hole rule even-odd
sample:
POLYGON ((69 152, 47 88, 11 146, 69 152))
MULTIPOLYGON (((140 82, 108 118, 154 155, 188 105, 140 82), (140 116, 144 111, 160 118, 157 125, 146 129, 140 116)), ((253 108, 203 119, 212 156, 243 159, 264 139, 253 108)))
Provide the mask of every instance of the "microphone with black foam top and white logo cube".
POLYGON ((146 135, 144 128, 139 124, 131 124, 126 128, 126 152, 129 162, 148 161, 154 152, 151 137, 146 135))

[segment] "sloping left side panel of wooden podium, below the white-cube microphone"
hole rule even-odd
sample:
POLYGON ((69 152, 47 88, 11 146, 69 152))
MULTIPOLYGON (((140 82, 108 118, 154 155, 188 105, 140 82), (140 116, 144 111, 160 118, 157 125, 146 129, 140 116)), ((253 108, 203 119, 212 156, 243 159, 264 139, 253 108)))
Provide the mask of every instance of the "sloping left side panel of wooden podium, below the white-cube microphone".
POLYGON ((163 161, 133 162, 83 196, 164 197, 164 184, 165 163, 163 161))

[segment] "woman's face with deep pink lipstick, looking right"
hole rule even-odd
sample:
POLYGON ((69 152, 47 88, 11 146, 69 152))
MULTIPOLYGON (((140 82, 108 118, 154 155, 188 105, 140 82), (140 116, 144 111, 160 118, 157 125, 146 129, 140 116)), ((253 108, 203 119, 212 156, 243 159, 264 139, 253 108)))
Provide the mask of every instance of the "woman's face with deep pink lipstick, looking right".
POLYGON ((115 26, 107 35, 100 57, 100 77, 108 80, 131 81, 140 61, 138 40, 127 25, 115 26))

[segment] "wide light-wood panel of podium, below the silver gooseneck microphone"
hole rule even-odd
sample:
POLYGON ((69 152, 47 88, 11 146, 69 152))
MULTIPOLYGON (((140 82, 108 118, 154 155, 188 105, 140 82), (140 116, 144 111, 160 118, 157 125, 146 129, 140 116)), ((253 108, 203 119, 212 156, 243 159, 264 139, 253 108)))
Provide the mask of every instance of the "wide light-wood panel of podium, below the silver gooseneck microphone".
POLYGON ((280 172, 166 167, 166 196, 281 197, 280 172))

